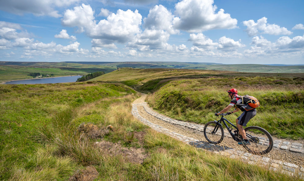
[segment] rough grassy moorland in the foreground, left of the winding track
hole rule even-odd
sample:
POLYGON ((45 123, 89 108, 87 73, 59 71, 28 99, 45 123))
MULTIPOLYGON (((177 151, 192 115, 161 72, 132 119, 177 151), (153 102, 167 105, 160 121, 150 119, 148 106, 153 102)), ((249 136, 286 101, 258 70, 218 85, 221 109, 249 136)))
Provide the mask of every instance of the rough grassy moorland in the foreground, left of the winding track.
POLYGON ((0 180, 298 180, 151 130, 130 113, 137 97, 110 82, 0 85, 0 180))

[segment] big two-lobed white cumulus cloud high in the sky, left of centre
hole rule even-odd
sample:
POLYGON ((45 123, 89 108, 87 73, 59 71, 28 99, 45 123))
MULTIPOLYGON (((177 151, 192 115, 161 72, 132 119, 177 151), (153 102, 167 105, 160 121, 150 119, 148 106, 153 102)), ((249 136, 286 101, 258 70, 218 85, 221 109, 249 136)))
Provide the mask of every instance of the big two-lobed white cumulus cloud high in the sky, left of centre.
POLYGON ((85 32, 89 37, 101 39, 101 42, 111 45, 114 42, 125 43, 136 33, 140 33, 141 19, 138 10, 133 12, 130 9, 127 11, 119 9, 116 14, 112 13, 107 19, 97 23, 91 6, 82 4, 74 7, 74 10, 68 9, 64 13, 62 24, 77 26, 79 32, 85 32))

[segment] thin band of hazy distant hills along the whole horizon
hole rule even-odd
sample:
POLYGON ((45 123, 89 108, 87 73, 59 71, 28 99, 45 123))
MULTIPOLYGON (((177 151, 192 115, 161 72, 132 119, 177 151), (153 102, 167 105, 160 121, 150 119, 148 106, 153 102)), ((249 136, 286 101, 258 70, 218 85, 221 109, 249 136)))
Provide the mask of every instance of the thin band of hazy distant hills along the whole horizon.
POLYGON ((212 62, 174 62, 174 61, 151 61, 151 62, 85 62, 85 61, 66 61, 66 62, 9 62, 0 61, 0 65, 15 65, 29 67, 53 67, 65 68, 73 71, 86 69, 83 71, 111 72, 117 68, 169 68, 169 69, 199 69, 216 71, 237 71, 237 72, 264 72, 264 73, 304 73, 304 65, 285 65, 285 64, 218 64, 212 62))

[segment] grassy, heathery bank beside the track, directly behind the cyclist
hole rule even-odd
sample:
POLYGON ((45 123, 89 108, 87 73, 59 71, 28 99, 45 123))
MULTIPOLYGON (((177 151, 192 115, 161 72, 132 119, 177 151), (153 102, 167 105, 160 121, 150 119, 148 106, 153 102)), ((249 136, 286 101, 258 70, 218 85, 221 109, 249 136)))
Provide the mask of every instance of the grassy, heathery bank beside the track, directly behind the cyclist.
MULTIPOLYGON (((145 85, 142 87, 145 88, 145 85)), ((254 96, 261 103, 257 108, 257 116, 250 120, 247 126, 263 127, 277 137, 304 138, 304 91, 301 78, 231 77, 174 80, 151 94, 148 102, 156 110, 170 117, 204 124, 214 120, 214 113, 230 103, 226 91, 231 88, 237 88, 239 95, 254 96)), ((227 119, 235 122, 240 113, 230 115, 227 119)))

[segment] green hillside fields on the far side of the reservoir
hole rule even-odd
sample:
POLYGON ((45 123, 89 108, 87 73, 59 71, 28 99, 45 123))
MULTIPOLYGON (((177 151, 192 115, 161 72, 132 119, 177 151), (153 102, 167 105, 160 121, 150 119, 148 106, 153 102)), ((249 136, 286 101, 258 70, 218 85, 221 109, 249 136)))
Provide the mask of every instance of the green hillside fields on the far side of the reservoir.
POLYGON ((33 78, 29 73, 58 76, 86 75, 97 71, 111 72, 116 68, 102 65, 50 63, 50 62, 0 62, 0 81, 33 78))

